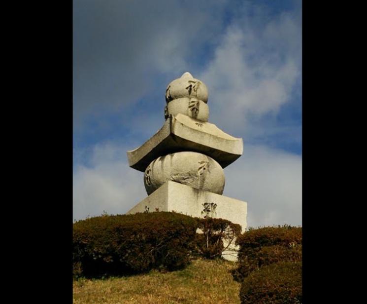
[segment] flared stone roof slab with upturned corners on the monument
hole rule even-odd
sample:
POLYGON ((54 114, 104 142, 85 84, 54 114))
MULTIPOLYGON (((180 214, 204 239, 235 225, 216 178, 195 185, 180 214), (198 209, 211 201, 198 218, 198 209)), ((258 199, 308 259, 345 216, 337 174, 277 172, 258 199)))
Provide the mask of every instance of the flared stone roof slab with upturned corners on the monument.
POLYGON ((129 166, 144 172, 151 161, 174 152, 193 151, 215 159, 222 168, 234 162, 243 152, 243 141, 215 124, 184 114, 171 115, 163 127, 135 150, 128 151, 129 166))

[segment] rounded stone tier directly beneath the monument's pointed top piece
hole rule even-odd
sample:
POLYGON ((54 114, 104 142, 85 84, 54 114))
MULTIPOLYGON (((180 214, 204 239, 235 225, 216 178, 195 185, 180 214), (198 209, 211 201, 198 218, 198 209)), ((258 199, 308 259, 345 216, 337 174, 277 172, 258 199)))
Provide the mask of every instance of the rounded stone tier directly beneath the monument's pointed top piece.
POLYGON ((177 114, 184 114, 201 121, 208 121, 209 107, 206 103, 197 98, 177 98, 167 104, 165 119, 167 119, 169 115, 175 116, 177 114))

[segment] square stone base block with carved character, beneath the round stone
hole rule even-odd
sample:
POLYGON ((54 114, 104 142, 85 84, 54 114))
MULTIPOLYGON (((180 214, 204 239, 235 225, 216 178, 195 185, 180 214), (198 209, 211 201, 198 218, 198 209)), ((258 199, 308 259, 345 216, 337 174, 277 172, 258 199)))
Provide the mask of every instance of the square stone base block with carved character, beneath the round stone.
MULTIPOLYGON (((174 211, 198 218, 222 218, 239 224, 242 233, 247 227, 246 202, 171 181, 144 198, 127 214, 154 211, 174 211)), ((224 252, 223 258, 236 260, 235 246, 229 249, 224 252)))

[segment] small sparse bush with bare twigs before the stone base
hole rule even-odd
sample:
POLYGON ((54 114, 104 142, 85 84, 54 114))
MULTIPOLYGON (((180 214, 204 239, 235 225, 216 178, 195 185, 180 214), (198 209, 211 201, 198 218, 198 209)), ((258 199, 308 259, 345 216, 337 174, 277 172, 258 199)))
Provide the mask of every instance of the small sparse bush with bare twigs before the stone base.
POLYGON ((197 219, 196 251, 206 259, 220 257, 241 233, 241 226, 224 219, 197 219), (224 241, 224 242, 223 242, 224 241))

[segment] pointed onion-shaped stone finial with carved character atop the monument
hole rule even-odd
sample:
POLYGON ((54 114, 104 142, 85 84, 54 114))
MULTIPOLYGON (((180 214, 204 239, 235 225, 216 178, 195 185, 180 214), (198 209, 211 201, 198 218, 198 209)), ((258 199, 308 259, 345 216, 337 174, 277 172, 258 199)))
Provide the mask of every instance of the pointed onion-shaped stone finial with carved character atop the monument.
POLYGON ((182 97, 194 97, 207 103, 208 89, 202 81, 194 78, 189 72, 186 72, 180 78, 171 81, 166 89, 167 103, 182 97))

